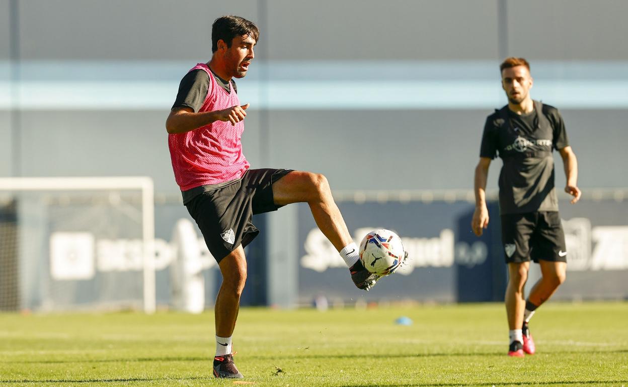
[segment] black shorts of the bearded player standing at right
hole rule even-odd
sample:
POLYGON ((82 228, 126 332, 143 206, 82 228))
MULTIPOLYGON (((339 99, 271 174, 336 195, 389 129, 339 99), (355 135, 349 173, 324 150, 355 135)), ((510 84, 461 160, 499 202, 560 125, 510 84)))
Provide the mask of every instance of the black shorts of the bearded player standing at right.
POLYGON ((565 233, 558 211, 506 214, 501 221, 506 263, 567 262, 565 233))

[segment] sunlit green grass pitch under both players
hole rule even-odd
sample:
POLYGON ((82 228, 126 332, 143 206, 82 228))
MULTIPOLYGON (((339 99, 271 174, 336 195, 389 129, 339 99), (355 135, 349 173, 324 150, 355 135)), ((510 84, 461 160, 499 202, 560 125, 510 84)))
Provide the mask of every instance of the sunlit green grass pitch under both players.
MULTIPOLYGON (((628 303, 550 302, 530 327, 516 359, 501 304, 242 309, 234 349, 254 386, 628 386, 628 303)), ((211 313, 0 314, 0 385, 238 385, 214 346, 211 313)))

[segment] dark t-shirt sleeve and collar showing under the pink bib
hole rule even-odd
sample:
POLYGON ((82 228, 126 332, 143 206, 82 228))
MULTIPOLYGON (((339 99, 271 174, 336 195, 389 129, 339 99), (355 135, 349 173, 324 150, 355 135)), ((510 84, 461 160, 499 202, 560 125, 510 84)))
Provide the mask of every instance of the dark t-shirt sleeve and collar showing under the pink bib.
MULTIPOLYGON (((214 72, 212 72, 212 74, 214 74, 216 82, 222 86, 222 88, 227 90, 227 92, 231 92, 231 90, 229 90, 229 82, 215 75, 214 72)), ((237 93, 236 81, 231 80, 230 83, 234 88, 234 92, 237 93)), ((205 102, 205 97, 207 97, 210 85, 211 83, 207 72, 203 70, 188 72, 185 77, 181 79, 179 92, 176 94, 176 100, 172 105, 172 109, 189 107, 192 108, 195 113, 198 113, 198 110, 203 106, 203 102, 205 102)))

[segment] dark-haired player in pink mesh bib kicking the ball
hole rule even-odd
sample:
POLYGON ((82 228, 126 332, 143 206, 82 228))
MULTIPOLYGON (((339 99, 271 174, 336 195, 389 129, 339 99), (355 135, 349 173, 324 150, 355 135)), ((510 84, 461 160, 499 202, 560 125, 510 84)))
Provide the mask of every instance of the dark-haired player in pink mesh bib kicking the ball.
POLYGON ((259 230, 252 215, 290 203, 308 203, 318 228, 337 248, 359 289, 379 279, 358 259, 322 174, 291 169, 249 169, 241 137, 249 104, 241 105, 234 78, 243 78, 254 58, 257 26, 239 16, 212 25, 212 59, 183 77, 166 120, 168 146, 183 204, 196 221, 223 281, 216 297, 216 378, 242 378, 232 357, 240 295, 246 281, 243 248, 259 230))

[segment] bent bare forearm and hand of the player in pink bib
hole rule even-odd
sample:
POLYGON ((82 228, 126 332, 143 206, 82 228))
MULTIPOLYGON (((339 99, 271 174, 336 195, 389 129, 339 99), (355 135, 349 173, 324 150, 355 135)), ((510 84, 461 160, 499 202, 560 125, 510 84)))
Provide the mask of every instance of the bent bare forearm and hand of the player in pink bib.
POLYGON ((180 107, 170 111, 166 119, 166 131, 170 134, 185 133, 216 121, 231 122, 232 125, 236 125, 237 122, 244 120, 248 108, 247 103, 214 112, 195 113, 192 108, 180 107))

